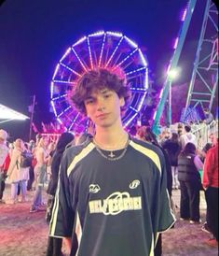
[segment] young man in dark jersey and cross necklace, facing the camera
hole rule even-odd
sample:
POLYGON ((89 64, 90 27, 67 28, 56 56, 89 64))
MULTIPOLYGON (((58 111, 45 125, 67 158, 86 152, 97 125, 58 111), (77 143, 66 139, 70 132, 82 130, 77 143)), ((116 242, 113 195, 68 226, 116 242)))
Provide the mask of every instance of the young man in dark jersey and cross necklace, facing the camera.
POLYGON ((154 255, 158 233, 175 220, 162 153, 123 129, 129 99, 125 79, 105 69, 87 72, 75 87, 75 107, 96 133, 62 158, 49 235, 72 239, 70 255, 75 234, 78 256, 154 255))

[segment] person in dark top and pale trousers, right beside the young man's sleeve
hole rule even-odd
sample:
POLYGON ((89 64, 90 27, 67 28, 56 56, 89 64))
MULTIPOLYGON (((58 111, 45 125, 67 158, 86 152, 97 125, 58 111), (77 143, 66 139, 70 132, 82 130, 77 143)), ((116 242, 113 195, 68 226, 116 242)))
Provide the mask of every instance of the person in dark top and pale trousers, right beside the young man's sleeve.
POLYGON ((178 156, 181 151, 178 134, 172 133, 171 138, 164 141, 162 148, 167 151, 171 162, 172 189, 178 190, 180 185, 178 180, 178 156))

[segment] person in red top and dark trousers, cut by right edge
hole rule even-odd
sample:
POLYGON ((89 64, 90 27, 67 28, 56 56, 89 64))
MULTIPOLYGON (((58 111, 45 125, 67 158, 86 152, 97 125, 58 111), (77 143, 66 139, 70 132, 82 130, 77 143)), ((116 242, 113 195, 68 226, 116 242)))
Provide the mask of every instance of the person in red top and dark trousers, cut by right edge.
POLYGON ((209 149, 204 162, 202 185, 208 212, 208 226, 213 238, 208 240, 210 246, 218 246, 218 134, 214 134, 212 149, 209 149))

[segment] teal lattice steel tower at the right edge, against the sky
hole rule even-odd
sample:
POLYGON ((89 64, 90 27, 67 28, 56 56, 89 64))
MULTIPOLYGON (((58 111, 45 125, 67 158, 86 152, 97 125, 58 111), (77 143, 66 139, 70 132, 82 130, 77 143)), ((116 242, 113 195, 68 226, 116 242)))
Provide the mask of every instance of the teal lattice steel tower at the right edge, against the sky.
MULTIPOLYGON (((188 107, 212 109, 218 85, 218 10, 211 0, 206 1, 205 13, 198 40, 193 74, 189 84, 185 110, 188 107)), ((186 111, 185 111, 186 112, 186 111)))

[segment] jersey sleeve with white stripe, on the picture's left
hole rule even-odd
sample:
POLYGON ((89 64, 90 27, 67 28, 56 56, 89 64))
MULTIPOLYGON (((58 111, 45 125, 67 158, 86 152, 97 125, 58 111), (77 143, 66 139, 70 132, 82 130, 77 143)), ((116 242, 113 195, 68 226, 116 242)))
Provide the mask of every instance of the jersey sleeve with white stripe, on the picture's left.
MULTIPOLYGON (((70 182, 67 177, 68 161, 62 158, 58 187, 49 224, 49 235, 55 237, 71 237, 73 233, 75 210, 71 205, 70 182)), ((72 186, 72 184, 71 184, 72 186)))

